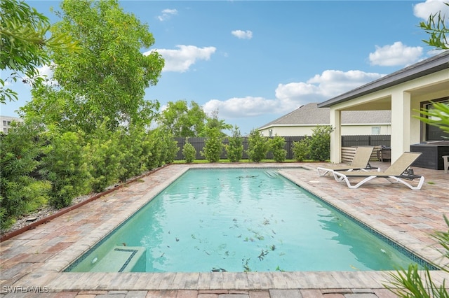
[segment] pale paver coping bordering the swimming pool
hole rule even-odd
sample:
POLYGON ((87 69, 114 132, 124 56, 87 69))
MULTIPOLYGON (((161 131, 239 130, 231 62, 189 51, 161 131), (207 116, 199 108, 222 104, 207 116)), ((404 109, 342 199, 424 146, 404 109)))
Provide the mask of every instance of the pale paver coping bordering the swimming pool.
MULTIPOLYGON (((292 168, 301 167, 314 171, 313 167, 304 164, 188 164, 182 166, 170 165, 165 169, 177 167, 177 172, 170 178, 160 181, 148 194, 126 206, 119 215, 102 223, 91 232, 86 239, 73 243, 72 246, 61 250, 51 257, 44 267, 38 268, 15 281, 14 285, 42 286, 46 285, 51 292, 72 290, 256 290, 256 289, 338 289, 338 288, 384 288, 388 283, 389 274, 394 271, 295 271, 295 272, 210 272, 210 273, 72 273, 62 272, 74 260, 88 251, 95 243, 101 241, 109 232, 126 221, 133 213, 147 204, 159 192, 165 189, 176 178, 191 168, 227 168, 227 167, 262 167, 282 168, 283 176, 293 183, 312 192, 336 208, 361 220, 369 227, 395 239, 399 244, 406 246, 413 253, 424 260, 436 260, 438 255, 428 246, 420 243, 413 237, 400 234, 387 225, 365 216, 357 216, 357 212, 351 206, 342 203, 336 197, 326 192, 321 192, 314 185, 304 183, 292 175, 292 168), (290 173, 288 173, 290 169, 290 173), (290 178, 288 177, 290 176, 290 178), (353 213, 351 213, 353 212, 353 213), (354 214, 355 213, 355 214, 354 214), (423 257, 426 255, 426 257, 423 257)), ((151 175, 143 178, 144 180, 151 175)), ((132 186, 132 185, 131 185, 132 186)), ((32 231, 30 231, 32 233, 32 231)), ((16 236, 16 238, 20 238, 16 236)), ((441 283, 447 278, 442 271, 431 271, 431 276, 436 283, 441 283)), ((2 283, 4 284, 4 283, 2 283)))

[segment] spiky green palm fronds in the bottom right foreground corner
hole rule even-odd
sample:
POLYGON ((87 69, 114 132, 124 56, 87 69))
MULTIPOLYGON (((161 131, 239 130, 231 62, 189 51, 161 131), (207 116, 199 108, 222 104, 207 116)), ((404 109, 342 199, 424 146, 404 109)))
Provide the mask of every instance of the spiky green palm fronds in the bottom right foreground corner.
MULTIPOLYGON (((449 219, 444 215, 446 225, 449 227, 449 219)), ((441 247, 440 253, 443 258, 449 260, 449 229, 447 232, 438 231, 432 234, 432 237, 441 247)), ((447 261, 446 260, 446 261, 447 261)), ((436 264, 434 264, 436 266, 436 264)), ((438 267, 438 266, 437 266, 438 267)), ((441 270, 449 273, 449 264, 445 262, 441 270)), ((417 264, 410 264, 408 269, 396 271, 389 274, 391 282, 384 285, 398 297, 404 298, 448 298, 449 292, 445 285, 445 279, 440 285, 436 285, 431 279, 429 269, 420 272, 417 264)))

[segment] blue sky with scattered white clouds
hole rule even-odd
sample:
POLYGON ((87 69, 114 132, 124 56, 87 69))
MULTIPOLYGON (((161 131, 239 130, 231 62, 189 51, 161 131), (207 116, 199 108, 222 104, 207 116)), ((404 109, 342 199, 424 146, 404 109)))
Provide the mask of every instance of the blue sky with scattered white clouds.
MULTIPOLYGON (((27 1, 56 17, 58 1, 27 1)), ((196 101, 242 134, 434 55, 418 27, 443 1, 120 1, 149 25, 166 66, 145 99, 196 101)), ((43 66, 42 73, 50 73, 43 66)), ((18 102, 29 86, 9 85, 18 102)))

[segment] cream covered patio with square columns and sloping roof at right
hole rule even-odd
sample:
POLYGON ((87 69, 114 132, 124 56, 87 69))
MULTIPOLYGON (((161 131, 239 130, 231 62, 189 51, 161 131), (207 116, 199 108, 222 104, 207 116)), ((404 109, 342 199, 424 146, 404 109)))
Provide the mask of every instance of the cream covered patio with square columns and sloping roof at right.
POLYGON ((318 107, 330 108, 330 125, 336 127, 330 161, 341 161, 344 111, 391 111, 391 162, 413 144, 443 140, 448 134, 416 118, 432 101, 449 104, 449 50, 322 102, 318 107))

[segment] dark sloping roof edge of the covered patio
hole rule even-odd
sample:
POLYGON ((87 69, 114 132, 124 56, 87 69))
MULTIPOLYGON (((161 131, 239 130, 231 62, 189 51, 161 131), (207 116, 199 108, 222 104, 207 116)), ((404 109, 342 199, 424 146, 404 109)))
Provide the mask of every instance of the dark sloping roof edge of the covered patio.
POLYGON ((363 95, 398 85, 415 78, 421 78, 422 76, 427 76, 431 73, 436 73, 445 69, 449 70, 449 50, 445 50, 439 55, 422 60, 416 64, 391 73, 388 76, 384 76, 366 85, 324 101, 318 106, 319 108, 328 108, 335 104, 340 104, 341 102, 349 101, 356 97, 361 97, 363 95))

